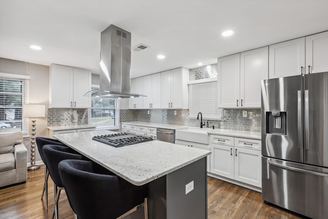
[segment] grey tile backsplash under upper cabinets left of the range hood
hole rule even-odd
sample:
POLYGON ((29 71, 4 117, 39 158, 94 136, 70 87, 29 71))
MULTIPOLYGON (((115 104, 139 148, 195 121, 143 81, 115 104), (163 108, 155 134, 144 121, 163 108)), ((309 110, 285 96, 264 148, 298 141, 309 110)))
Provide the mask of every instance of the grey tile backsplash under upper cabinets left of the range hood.
POLYGON ((89 109, 48 109, 48 126, 87 125, 89 109))

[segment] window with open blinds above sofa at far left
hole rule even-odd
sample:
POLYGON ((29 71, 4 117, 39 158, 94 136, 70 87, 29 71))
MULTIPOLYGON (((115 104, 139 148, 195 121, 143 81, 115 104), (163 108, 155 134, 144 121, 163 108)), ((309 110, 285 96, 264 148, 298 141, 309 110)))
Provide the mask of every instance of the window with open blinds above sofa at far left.
POLYGON ((0 73, 0 133, 27 133, 23 105, 28 103, 29 76, 0 73))

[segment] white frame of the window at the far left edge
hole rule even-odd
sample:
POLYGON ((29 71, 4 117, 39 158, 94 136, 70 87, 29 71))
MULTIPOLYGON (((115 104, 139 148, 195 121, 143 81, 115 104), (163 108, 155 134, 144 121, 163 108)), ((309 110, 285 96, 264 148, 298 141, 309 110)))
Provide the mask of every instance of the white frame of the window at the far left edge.
MULTIPOLYGON (((8 79, 8 80, 16 80, 16 81, 22 81, 23 82, 23 89, 22 89, 22 106, 20 107, 6 107, 6 106, 0 106, 1 109, 22 109, 22 127, 21 127, 21 132, 23 135, 28 134, 28 123, 29 123, 29 118, 26 118, 23 116, 23 106, 25 104, 29 103, 29 84, 30 84, 30 76, 28 75, 20 75, 20 74, 9 74, 9 73, 3 73, 0 72, 0 78, 3 79, 8 79)), ((12 131, 9 132, 4 132, 4 133, 11 133, 12 131)))

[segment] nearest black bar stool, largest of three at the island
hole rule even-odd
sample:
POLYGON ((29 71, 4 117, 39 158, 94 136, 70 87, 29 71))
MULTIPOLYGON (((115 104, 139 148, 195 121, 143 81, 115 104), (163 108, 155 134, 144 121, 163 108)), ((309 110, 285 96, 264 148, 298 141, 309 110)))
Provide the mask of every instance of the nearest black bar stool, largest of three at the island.
POLYGON ((148 218, 148 185, 135 186, 116 175, 104 174, 106 171, 95 172, 90 161, 65 160, 58 169, 70 206, 79 219, 123 218, 140 207, 145 208, 148 218))

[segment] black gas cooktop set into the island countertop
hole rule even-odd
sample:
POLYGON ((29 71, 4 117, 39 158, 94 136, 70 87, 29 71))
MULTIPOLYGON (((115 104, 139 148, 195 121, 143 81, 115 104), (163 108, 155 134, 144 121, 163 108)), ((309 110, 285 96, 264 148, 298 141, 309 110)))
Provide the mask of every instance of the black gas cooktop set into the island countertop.
POLYGON ((130 134, 130 133, 116 133, 105 134, 92 137, 93 140, 105 143, 113 147, 122 147, 133 145, 141 142, 153 141, 152 137, 130 134))

